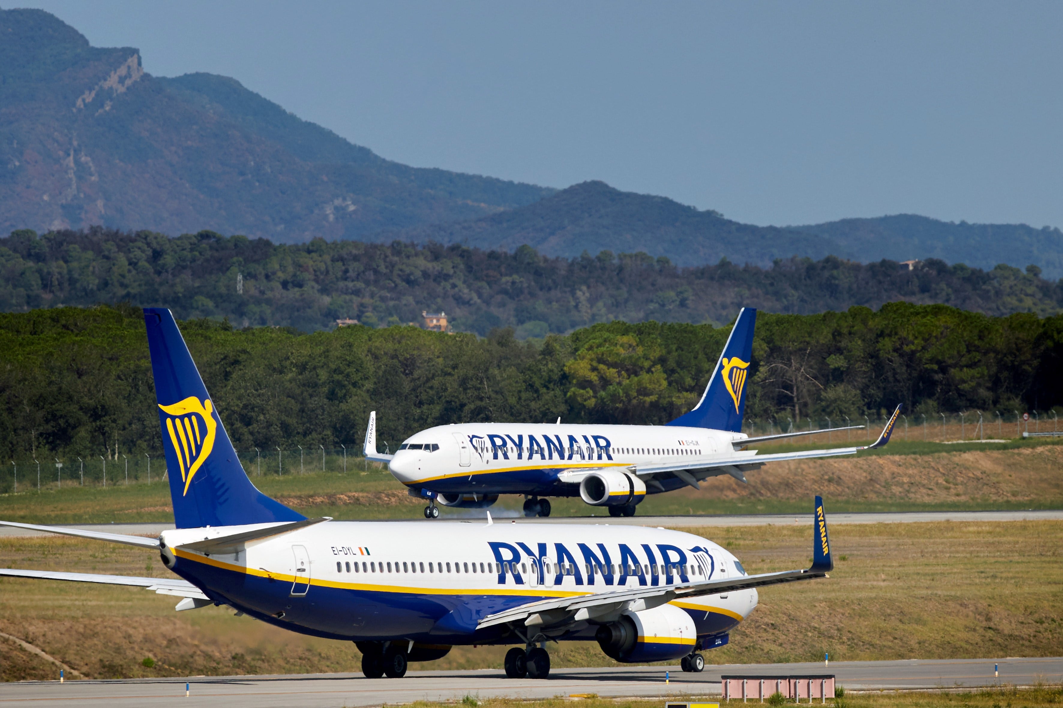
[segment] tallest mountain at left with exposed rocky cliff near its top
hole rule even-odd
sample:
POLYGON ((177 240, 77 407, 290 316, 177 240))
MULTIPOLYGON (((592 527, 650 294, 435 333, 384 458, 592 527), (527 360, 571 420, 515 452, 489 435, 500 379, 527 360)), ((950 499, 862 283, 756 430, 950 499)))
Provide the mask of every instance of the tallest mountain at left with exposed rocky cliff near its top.
POLYGON ((473 219, 553 192, 415 169, 226 76, 158 79, 39 10, 0 10, 0 229, 215 228, 302 242, 473 219))

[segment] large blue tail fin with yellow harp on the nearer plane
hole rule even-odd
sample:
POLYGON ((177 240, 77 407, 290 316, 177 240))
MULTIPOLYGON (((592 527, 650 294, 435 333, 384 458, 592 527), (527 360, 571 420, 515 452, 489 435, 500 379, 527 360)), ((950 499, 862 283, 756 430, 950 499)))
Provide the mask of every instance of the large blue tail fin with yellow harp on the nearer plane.
POLYGON ((251 484, 170 311, 144 320, 178 529, 305 519, 251 484))

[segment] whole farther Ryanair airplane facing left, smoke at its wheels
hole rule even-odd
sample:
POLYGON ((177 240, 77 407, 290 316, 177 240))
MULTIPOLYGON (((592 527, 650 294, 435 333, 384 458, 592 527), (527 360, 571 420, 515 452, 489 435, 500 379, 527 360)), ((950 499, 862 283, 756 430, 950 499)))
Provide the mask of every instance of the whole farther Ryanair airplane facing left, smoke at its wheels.
MULTIPOLYGON (((827 432, 791 432, 749 437, 742 432, 745 385, 753 361, 757 311, 743 308, 715 370, 692 411, 665 426, 598 426, 474 422, 423 430, 392 454, 376 451, 376 413, 369 416, 364 451, 386 462, 410 495, 428 501, 424 517, 445 506, 490 506, 499 495, 524 495, 525 516, 550 516, 545 497, 579 497, 605 506, 610 516, 634 516, 646 495, 671 491, 709 477, 745 472, 767 462, 832 457, 882 447, 900 407, 882 434, 866 447, 757 454, 749 445, 827 432)), ((854 430, 863 426, 832 428, 854 430)))

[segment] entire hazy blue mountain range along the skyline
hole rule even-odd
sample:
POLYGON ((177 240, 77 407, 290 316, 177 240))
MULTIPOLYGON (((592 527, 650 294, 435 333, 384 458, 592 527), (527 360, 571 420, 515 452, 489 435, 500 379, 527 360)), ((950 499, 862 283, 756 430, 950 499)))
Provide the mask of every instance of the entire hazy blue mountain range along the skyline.
POLYGON ((102 225, 274 243, 460 243, 545 256, 645 252, 678 265, 792 256, 938 258, 1063 276, 1063 234, 899 214, 756 226, 601 182, 563 190, 411 168, 234 79, 152 76, 37 10, 0 11, 0 232, 102 225))

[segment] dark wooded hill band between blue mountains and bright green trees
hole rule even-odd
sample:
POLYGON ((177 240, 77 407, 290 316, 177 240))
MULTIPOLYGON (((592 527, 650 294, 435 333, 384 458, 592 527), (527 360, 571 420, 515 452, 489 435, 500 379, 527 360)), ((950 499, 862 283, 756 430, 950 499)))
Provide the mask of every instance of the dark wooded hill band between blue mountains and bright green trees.
POLYGON ((596 322, 716 324, 745 306, 811 314, 904 299, 991 315, 1060 311, 1063 287, 1010 266, 985 272, 930 260, 909 271, 826 258, 769 269, 728 261, 676 267, 646 254, 601 252, 546 258, 459 245, 415 246, 315 240, 274 245, 210 231, 167 238, 90 229, 0 239, 0 311, 129 301, 179 317, 227 317, 237 327, 315 330, 340 317, 383 326, 444 310, 454 329, 518 339, 564 333, 596 322), (242 292, 241 292, 242 290, 242 292))

